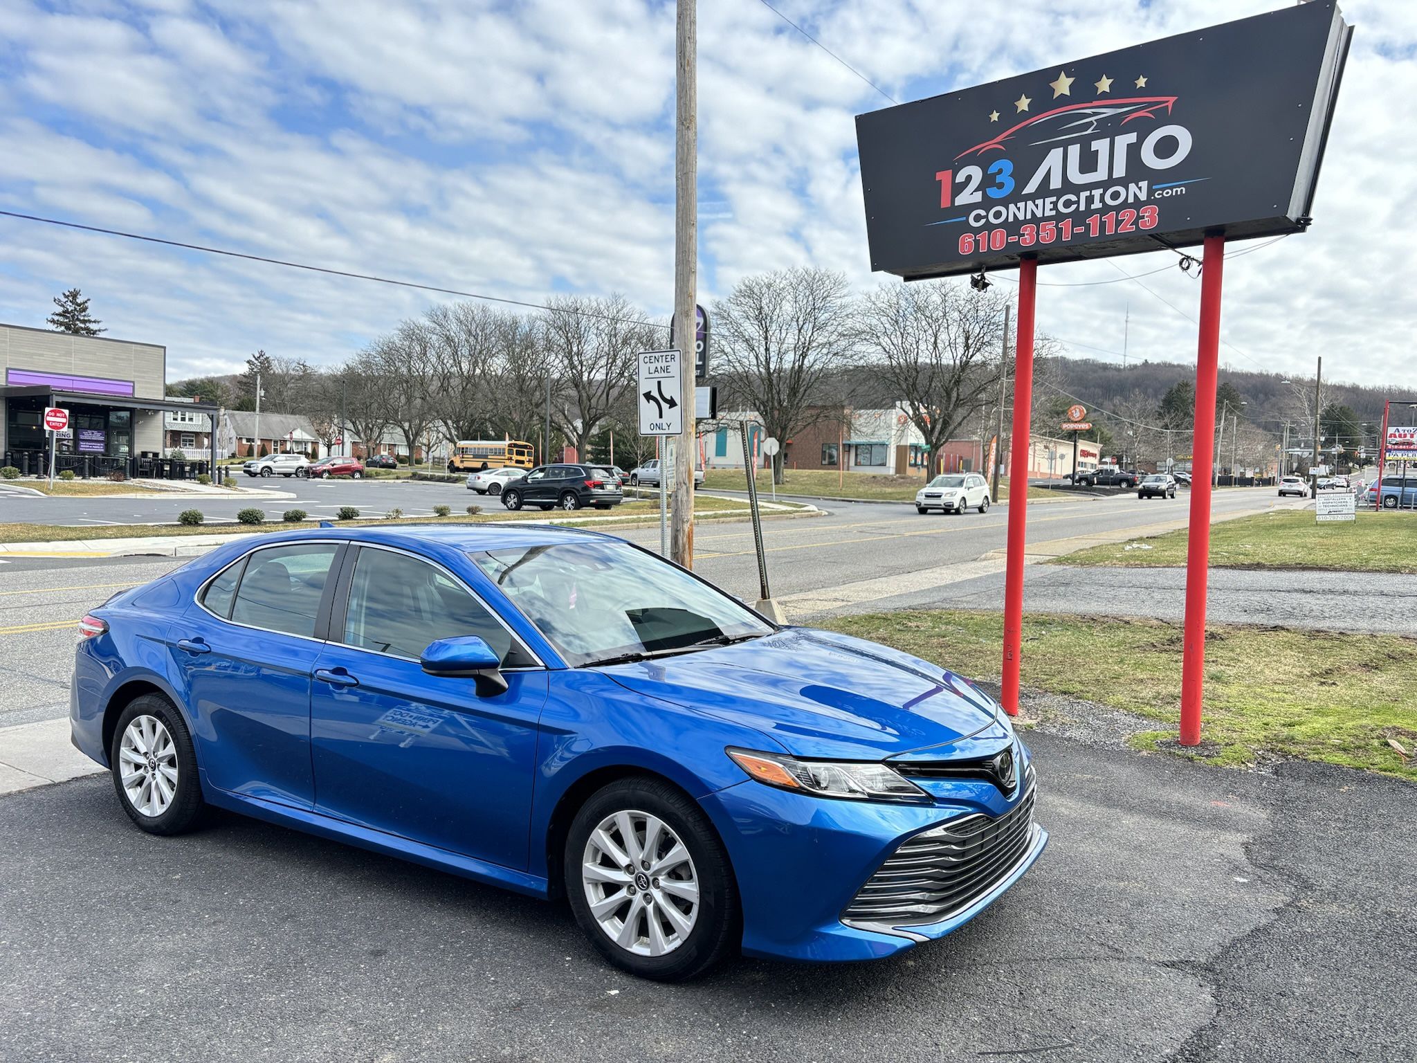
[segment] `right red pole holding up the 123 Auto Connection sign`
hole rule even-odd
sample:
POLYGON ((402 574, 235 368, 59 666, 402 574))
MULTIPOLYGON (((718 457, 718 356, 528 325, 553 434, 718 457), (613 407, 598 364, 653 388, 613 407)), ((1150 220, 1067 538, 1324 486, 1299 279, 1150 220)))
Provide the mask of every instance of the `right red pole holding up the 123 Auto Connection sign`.
POLYGON ((1200 339, 1196 346, 1196 420, 1190 459, 1190 533, 1186 543, 1186 634, 1180 663, 1180 744, 1200 743, 1206 683, 1206 584, 1210 566, 1210 475, 1216 448, 1216 373, 1220 366, 1220 281, 1226 238, 1206 235, 1200 269, 1200 339))

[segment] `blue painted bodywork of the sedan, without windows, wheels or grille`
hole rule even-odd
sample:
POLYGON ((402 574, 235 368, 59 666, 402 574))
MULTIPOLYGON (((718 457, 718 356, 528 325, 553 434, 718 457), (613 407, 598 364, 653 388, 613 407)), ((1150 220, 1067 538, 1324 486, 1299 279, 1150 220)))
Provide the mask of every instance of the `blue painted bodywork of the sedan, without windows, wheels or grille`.
POLYGON ((870 960, 910 948, 972 918, 1041 853, 1047 833, 1034 826, 1023 857, 988 896, 939 923, 843 923, 843 909, 904 839, 961 815, 1003 815, 1024 787, 1006 797, 985 780, 914 778, 928 799, 832 799, 748 780, 724 750, 907 765, 1013 748, 1023 778, 1029 754, 1007 719, 952 672, 803 628, 568 668, 468 554, 587 534, 329 529, 218 547, 94 611, 109 629, 81 641, 75 655, 74 743, 108 764, 116 713, 130 694, 157 690, 188 724, 211 804, 541 897, 561 886, 551 840, 574 814, 567 797, 581 799, 609 774, 652 772, 694 798, 718 831, 743 900, 743 947, 762 957, 870 960), (251 550, 312 539, 436 561, 546 668, 509 669, 506 693, 479 697, 470 679, 244 628, 196 602, 210 577, 251 550), (359 683, 330 685, 313 679, 316 670, 357 675, 359 683))

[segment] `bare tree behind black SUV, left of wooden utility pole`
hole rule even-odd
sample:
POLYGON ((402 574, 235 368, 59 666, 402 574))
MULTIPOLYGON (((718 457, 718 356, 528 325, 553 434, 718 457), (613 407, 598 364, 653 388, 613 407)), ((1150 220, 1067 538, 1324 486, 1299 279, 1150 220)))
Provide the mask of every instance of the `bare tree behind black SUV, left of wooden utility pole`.
POLYGON ((650 347, 653 329, 639 325, 643 313, 618 293, 558 296, 550 308, 540 333, 555 377, 553 418, 584 455, 616 400, 635 386, 635 357, 650 347))

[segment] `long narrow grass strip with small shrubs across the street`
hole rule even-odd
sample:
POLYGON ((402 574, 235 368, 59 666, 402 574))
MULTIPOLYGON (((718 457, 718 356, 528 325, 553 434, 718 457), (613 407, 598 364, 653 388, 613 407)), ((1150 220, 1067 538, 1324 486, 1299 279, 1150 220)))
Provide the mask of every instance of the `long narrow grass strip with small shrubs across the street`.
MULTIPOLYGON (((343 526, 367 526, 367 524, 483 524, 496 523, 507 520, 546 520, 547 517, 561 517, 565 516, 561 510, 551 510, 546 513, 540 509, 523 509, 516 513, 504 509, 500 503, 493 502, 487 505, 482 500, 472 505, 482 506, 482 513, 476 516, 469 516, 463 506, 453 506, 452 514, 446 517, 385 517, 383 514, 374 513, 370 509, 360 510, 360 519, 357 520, 336 520, 333 523, 343 526)), ((194 506, 196 509, 196 506, 194 506)), ((282 522, 281 514, 285 512, 279 507, 262 507, 255 506, 254 509, 262 509, 266 514, 266 523, 264 524, 99 524, 95 527, 60 527, 55 524, 0 524, 0 543, 74 543, 79 540, 89 539, 146 539, 149 536, 231 536, 244 532, 290 532, 295 529, 310 529, 319 527, 319 522, 302 520, 302 522, 282 522)), ((638 517, 640 520, 656 517, 659 514, 657 502, 625 502, 615 506, 612 510, 578 510, 587 517, 638 517)), ((747 513, 748 507, 741 502, 734 502, 731 499, 714 499, 714 497, 700 497, 694 505, 694 516, 701 520, 713 520, 718 517, 731 517, 738 513, 747 513)), ((585 520, 585 522, 571 522, 584 527, 599 527, 606 526, 609 529, 618 527, 615 523, 606 524, 604 520, 585 520)))

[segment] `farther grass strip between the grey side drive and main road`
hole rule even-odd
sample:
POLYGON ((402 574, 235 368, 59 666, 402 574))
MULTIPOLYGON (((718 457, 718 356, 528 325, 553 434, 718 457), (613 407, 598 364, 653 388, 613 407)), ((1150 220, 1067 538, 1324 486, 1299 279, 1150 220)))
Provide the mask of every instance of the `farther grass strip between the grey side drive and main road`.
MULTIPOLYGON (((1185 529, 1128 543, 1094 546, 1056 564, 1183 567, 1185 529)), ((1357 510, 1356 522, 1314 519, 1314 510, 1255 513, 1210 526, 1210 564, 1223 568, 1339 568, 1359 573, 1417 573, 1417 514, 1357 510)))

